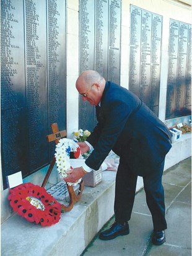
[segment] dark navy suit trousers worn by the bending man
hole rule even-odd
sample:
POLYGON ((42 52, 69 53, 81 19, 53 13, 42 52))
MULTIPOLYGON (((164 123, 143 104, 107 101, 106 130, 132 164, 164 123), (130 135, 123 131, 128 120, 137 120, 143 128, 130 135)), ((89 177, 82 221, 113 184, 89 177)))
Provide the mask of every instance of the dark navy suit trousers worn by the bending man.
MULTIPOLYGON (((154 170, 149 170, 149 175, 143 178, 146 202, 152 215, 154 230, 167 229, 165 220, 164 187, 162 175, 165 159, 154 170)), ((115 220, 119 223, 129 221, 133 210, 136 193, 137 175, 131 170, 126 159, 120 157, 120 164, 116 173, 115 185, 115 220)))

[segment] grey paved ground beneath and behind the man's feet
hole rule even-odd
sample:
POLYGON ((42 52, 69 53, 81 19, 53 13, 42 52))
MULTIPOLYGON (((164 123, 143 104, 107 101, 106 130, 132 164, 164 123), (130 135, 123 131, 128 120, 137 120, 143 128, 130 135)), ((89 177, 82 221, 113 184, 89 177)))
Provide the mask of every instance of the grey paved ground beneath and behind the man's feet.
MULTIPOLYGON (((136 194, 130 234, 103 241, 98 234, 81 256, 191 256, 191 157, 164 171, 166 242, 151 244, 152 218, 144 190, 136 194)), ((103 226, 110 227, 114 217, 103 226)))

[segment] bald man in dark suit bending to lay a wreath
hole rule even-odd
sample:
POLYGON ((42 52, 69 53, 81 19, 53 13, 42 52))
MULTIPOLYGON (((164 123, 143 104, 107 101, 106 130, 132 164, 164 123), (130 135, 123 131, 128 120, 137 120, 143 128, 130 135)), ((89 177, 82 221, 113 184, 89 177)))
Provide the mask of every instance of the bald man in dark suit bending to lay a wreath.
POLYGON ((165 155, 172 147, 171 134, 141 99, 115 83, 106 82, 94 70, 81 73, 76 88, 84 101, 96 106, 98 124, 86 142, 79 143, 81 152, 94 148, 82 167, 69 171, 64 180, 75 182, 87 171, 98 170, 110 150, 120 156, 116 173, 115 222, 100 233, 110 240, 129 234, 137 176, 142 176, 147 206, 152 214, 152 243, 165 242, 164 188, 162 174, 165 155))

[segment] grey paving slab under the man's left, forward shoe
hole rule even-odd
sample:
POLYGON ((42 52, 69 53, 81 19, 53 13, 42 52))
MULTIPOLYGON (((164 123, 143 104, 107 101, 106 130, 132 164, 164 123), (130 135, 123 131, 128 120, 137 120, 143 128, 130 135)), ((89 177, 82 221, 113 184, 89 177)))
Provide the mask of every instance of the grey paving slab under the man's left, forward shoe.
MULTIPOLYGON (((114 217, 102 229, 107 229, 115 221, 114 217)), ((98 235, 90 243, 89 247, 82 255, 126 255, 126 256, 141 256, 146 249, 148 237, 152 232, 152 221, 150 216, 139 215, 133 213, 129 222, 130 234, 116 237, 114 240, 100 240, 98 235), (151 227, 151 228, 150 228, 151 227)))

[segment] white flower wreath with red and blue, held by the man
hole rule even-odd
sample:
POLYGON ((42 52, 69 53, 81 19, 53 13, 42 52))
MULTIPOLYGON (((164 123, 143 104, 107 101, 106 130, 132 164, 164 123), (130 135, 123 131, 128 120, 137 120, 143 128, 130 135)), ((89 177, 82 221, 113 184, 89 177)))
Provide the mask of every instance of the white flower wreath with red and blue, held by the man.
MULTIPOLYGON (((66 171, 72 169, 69 161, 70 153, 73 152, 74 158, 78 158, 80 155, 79 145, 74 142, 74 140, 64 138, 59 140, 58 144, 56 145, 55 151, 55 159, 58 172, 63 178, 66 178, 68 176, 66 171)), ((75 186, 80 181, 81 179, 77 181, 77 183, 68 183, 68 185, 75 186)))

